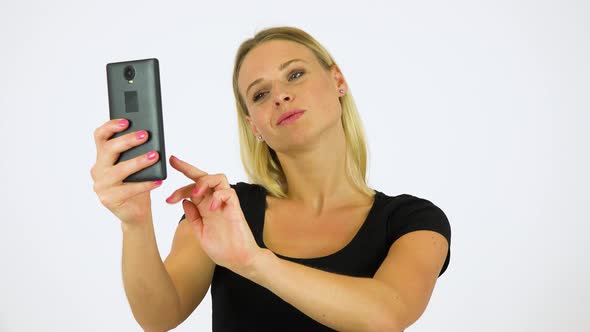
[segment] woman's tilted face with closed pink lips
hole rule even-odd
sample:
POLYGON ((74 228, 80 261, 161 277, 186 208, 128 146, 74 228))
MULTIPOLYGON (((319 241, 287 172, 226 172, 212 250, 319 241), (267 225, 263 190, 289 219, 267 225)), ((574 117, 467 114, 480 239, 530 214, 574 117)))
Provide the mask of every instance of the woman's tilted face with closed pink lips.
POLYGON ((346 88, 336 66, 326 70, 308 48, 284 40, 252 49, 238 76, 253 134, 277 152, 305 148, 341 127, 339 89, 346 88))

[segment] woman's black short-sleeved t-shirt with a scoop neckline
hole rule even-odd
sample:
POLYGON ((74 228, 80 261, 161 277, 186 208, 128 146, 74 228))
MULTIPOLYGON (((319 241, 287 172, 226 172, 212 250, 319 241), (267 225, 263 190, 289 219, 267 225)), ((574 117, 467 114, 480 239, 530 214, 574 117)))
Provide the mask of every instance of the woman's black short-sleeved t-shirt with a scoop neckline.
MULTIPOLYGON (((239 182, 235 189, 244 216, 258 246, 262 239, 266 190, 239 182)), ((451 243, 451 228, 444 212, 428 200, 402 194, 387 196, 376 191, 369 214, 354 238, 340 251, 318 258, 281 259, 312 268, 349 275, 373 277, 387 256, 389 248, 402 235, 417 230, 442 234, 451 243)), ((450 249, 440 271, 449 265, 450 249)), ((333 331, 283 301, 268 289, 216 266, 211 283, 213 331, 333 331)))

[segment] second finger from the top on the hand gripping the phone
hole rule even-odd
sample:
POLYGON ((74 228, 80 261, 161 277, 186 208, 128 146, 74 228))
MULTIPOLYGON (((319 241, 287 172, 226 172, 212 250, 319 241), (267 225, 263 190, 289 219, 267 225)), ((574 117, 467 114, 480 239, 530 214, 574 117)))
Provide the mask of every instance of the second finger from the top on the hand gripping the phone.
POLYGON ((149 139, 147 130, 139 130, 111 138, 104 142, 96 151, 96 164, 99 167, 110 167, 117 162, 122 152, 141 145, 149 139))

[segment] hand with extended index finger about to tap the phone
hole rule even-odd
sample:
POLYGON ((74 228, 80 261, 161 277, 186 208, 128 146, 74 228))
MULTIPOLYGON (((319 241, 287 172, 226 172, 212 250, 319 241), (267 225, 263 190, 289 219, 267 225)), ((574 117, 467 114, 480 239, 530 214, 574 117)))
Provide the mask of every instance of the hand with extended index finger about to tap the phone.
POLYGON ((217 265, 246 276, 261 249, 246 222, 238 196, 223 174, 207 174, 174 156, 170 165, 195 183, 176 190, 166 201, 183 200, 201 248, 217 265))

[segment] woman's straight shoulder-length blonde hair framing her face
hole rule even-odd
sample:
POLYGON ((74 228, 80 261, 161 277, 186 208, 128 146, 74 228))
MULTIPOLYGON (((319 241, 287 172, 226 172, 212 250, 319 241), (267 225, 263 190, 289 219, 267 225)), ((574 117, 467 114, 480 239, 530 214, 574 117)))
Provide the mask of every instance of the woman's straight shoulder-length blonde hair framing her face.
MULTIPOLYGON (((276 152, 267 144, 254 137, 246 116, 248 108, 238 90, 238 75, 246 55, 256 46, 271 40, 287 40, 307 47, 319 63, 330 70, 336 62, 328 51, 305 31, 293 27, 273 27, 258 32, 244 41, 236 54, 233 72, 233 89, 238 111, 240 156, 251 182, 262 185, 272 196, 285 198, 287 182, 276 152)), ((350 93, 340 97, 342 126, 346 137, 346 171, 352 184, 361 192, 372 196, 373 190, 366 183, 367 146, 361 120, 350 93)))

